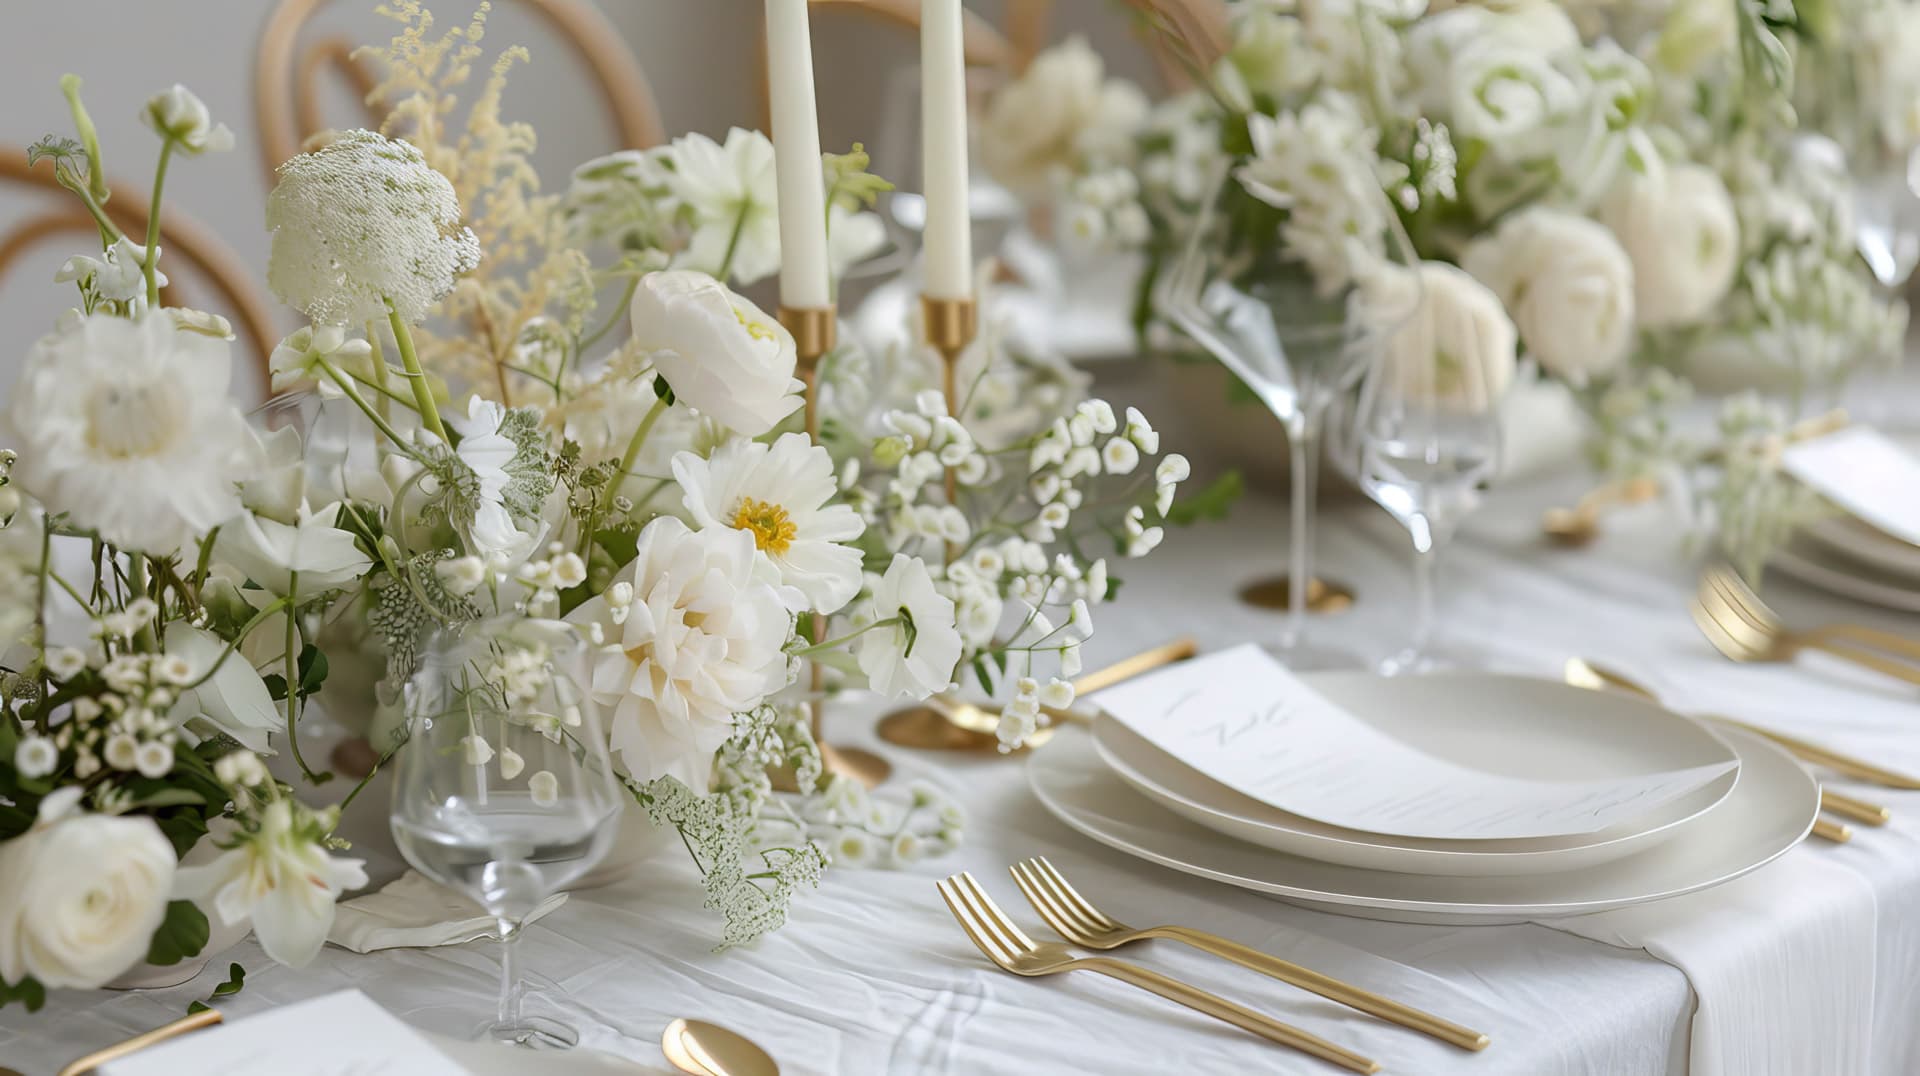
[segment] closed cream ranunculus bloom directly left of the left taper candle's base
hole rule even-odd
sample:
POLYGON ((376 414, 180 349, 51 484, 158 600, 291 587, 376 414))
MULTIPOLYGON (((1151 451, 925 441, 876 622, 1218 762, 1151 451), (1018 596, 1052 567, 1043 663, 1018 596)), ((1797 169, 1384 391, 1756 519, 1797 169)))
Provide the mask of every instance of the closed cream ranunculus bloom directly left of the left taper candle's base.
POLYGON ((793 334, 707 273, 641 277, 630 313, 674 398, 730 430, 760 436, 801 405, 793 334))

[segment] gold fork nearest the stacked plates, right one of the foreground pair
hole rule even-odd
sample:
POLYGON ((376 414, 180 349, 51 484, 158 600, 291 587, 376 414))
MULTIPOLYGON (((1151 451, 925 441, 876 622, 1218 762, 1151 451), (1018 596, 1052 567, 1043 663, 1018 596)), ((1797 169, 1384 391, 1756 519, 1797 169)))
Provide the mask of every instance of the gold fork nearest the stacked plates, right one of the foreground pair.
POLYGON ((1350 986, 1332 976, 1315 972, 1313 968, 1304 968, 1292 961, 1261 953, 1260 949, 1240 945, 1238 942, 1231 942, 1217 934, 1187 926, 1148 926, 1146 930, 1135 930, 1092 907, 1092 903, 1079 895, 1073 884, 1068 882, 1068 876, 1048 863, 1044 855, 1016 863, 1008 870, 1014 872, 1014 882, 1020 886, 1020 892, 1025 893, 1033 911, 1041 913, 1041 918, 1044 918, 1048 926, 1075 945, 1083 945, 1087 949, 1117 949, 1129 942, 1165 938, 1169 942, 1192 945, 1202 953, 1225 957, 1242 968, 1250 968, 1263 976, 1298 986, 1300 990, 1319 993, 1321 997, 1338 1001, 1350 1009, 1359 1009, 1361 1013, 1369 1013, 1382 1020, 1400 1024, 1402 1028, 1432 1036, 1461 1049, 1486 1049, 1486 1043, 1490 1041, 1486 1034, 1475 1032, 1473 1028, 1463 1028, 1452 1020, 1421 1013, 1411 1005, 1380 997, 1379 993, 1350 986))

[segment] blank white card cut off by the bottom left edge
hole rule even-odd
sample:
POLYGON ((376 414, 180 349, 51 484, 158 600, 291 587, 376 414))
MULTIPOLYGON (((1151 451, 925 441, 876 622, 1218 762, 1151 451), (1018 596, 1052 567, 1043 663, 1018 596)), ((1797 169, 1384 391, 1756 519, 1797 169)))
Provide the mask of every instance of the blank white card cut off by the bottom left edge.
POLYGON ((342 990, 109 1061, 100 1076, 467 1076, 419 1032, 342 990))

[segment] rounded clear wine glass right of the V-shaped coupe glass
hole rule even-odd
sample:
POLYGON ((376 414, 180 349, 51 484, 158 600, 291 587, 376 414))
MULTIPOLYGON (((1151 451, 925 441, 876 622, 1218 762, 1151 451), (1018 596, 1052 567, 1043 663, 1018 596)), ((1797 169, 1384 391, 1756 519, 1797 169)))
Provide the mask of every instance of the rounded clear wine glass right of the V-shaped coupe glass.
MULTIPOLYGON (((1413 329, 1407 329, 1413 334, 1413 329)), ((1384 674, 1446 665, 1432 649, 1436 561, 1500 471, 1507 371, 1459 361, 1421 338, 1392 346, 1367 373, 1352 413, 1359 488, 1413 538, 1413 632, 1384 674)))

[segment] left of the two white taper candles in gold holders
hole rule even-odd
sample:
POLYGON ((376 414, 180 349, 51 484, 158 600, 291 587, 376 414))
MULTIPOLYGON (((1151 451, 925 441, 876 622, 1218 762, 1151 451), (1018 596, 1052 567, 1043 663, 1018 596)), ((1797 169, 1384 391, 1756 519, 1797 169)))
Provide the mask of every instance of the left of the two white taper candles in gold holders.
POLYGON ((774 106, 774 173, 780 181, 780 306, 831 306, 826 183, 806 0, 766 0, 766 85, 774 106))

